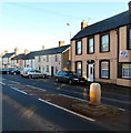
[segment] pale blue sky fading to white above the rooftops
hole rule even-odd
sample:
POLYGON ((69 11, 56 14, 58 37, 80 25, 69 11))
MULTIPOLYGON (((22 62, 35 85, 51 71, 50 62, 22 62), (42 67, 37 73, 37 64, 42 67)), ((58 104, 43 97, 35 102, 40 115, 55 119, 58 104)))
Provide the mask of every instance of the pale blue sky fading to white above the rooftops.
POLYGON ((128 10, 128 0, 121 1, 0 1, 0 53, 23 53, 70 43, 80 31, 82 21, 89 25, 128 10), (69 23, 70 25, 67 25, 69 23))

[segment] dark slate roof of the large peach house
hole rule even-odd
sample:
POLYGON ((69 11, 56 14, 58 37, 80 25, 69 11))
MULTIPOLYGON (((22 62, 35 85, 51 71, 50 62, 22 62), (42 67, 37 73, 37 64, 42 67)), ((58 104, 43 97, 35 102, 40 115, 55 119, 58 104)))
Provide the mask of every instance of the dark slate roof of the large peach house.
POLYGON ((131 23, 130 18, 131 18, 131 11, 128 10, 125 12, 119 13, 117 16, 97 22, 94 24, 88 25, 83 30, 79 31, 71 40, 81 39, 88 35, 93 35, 95 33, 100 33, 112 29, 117 29, 122 25, 127 25, 131 23))

